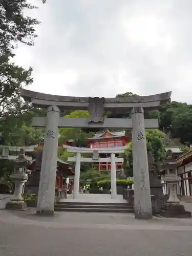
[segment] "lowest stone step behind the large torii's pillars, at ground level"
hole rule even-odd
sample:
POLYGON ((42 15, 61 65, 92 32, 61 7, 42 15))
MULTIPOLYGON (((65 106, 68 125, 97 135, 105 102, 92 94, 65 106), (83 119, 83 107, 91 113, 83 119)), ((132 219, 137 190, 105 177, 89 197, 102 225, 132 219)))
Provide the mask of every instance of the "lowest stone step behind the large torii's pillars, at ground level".
POLYGON ((79 211, 79 212, 134 212, 134 209, 126 209, 126 208, 72 208, 72 207, 67 207, 67 208, 55 208, 55 211, 79 211))

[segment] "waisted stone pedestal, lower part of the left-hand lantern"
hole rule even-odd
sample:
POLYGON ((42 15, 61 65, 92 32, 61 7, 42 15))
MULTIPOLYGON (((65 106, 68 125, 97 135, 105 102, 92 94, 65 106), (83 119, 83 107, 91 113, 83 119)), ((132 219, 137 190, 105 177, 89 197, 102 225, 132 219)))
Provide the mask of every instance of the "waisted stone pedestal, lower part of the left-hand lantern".
POLYGON ((15 190, 11 201, 6 204, 6 209, 22 210, 27 207, 22 197, 24 182, 28 179, 27 174, 13 174, 10 176, 15 184, 15 190))

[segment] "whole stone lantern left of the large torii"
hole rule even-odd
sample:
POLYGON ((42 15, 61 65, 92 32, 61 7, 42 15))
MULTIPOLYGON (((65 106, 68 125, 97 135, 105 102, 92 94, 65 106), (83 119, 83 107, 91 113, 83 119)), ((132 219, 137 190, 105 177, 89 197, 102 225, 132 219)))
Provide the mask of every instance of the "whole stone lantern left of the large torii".
POLYGON ((11 201, 6 204, 6 209, 20 210, 27 207, 26 202, 22 197, 23 185, 28 180, 27 165, 29 161, 25 158, 25 151, 20 149, 18 157, 14 160, 14 173, 10 175, 12 182, 15 185, 14 195, 11 201))

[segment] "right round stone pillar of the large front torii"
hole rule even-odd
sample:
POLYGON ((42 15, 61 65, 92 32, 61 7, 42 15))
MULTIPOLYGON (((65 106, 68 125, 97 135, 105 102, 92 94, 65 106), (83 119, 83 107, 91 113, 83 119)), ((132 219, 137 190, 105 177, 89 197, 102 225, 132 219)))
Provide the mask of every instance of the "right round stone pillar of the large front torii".
POLYGON ((133 109, 132 122, 135 218, 152 219, 144 113, 142 108, 133 109))

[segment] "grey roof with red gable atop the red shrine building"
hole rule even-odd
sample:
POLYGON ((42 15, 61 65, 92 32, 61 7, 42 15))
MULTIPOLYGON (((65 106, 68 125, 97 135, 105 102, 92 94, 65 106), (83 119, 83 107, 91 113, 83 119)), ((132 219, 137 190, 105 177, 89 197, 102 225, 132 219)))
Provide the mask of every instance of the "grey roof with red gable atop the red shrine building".
POLYGON ((92 138, 86 139, 87 141, 95 141, 95 140, 102 140, 102 139, 116 139, 116 138, 123 138, 127 140, 125 131, 118 131, 118 132, 110 132, 106 130, 104 132, 98 132, 92 138))

